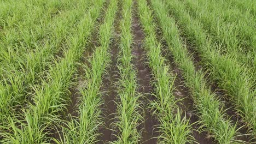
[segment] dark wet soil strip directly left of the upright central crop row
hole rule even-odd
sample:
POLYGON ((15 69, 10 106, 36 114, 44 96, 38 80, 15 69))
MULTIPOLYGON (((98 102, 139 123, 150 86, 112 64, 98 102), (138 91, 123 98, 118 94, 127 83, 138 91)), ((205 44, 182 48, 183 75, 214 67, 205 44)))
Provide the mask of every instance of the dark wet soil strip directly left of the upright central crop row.
POLYGON ((118 73, 118 67, 117 67, 117 60, 118 60, 118 39, 120 37, 119 32, 119 23, 120 23, 120 13, 121 13, 121 6, 120 3, 118 3, 119 9, 117 11, 116 19, 114 21, 114 38, 112 39, 112 44, 110 45, 110 54, 111 54, 111 62, 110 67, 108 68, 108 76, 104 77, 103 80, 103 89, 102 91, 105 91, 103 95, 104 99, 104 105, 102 109, 103 117, 104 117, 104 127, 100 128, 100 141, 98 143, 107 143, 110 141, 115 141, 116 137, 114 136, 117 131, 112 129, 112 123, 114 123, 116 120, 115 118, 115 112, 117 110, 117 87, 115 86, 115 83, 117 83, 119 78, 118 73))

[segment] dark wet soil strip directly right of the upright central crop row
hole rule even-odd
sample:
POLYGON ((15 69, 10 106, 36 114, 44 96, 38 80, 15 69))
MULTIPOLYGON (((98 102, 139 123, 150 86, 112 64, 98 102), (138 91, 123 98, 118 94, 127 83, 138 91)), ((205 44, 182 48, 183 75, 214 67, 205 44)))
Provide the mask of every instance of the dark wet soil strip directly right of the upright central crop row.
POLYGON ((150 103, 154 99, 152 95, 149 93, 152 93, 153 88, 150 86, 150 69, 148 67, 147 60, 145 58, 145 52, 142 48, 142 40, 144 39, 144 35, 142 32, 141 27, 139 27, 139 20, 138 17, 133 14, 133 21, 132 21, 132 33, 134 35, 133 39, 133 50, 132 55, 133 63, 135 64, 137 68, 137 79, 138 79, 138 85, 139 93, 143 93, 145 97, 143 97, 143 107, 144 107, 144 123, 142 125, 142 143, 157 143, 158 132, 156 129, 156 125, 159 124, 159 122, 156 120, 155 116, 152 116, 152 113, 150 110, 147 109, 147 104, 150 103))

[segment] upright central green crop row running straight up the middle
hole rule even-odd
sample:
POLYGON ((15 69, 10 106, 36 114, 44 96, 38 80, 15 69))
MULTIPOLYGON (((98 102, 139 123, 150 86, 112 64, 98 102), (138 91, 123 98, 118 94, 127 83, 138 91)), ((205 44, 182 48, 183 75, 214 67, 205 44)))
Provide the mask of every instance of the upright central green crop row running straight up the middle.
POLYGON ((132 5, 131 0, 123 1, 123 10, 120 21, 120 44, 118 57, 119 79, 117 81, 117 122, 114 122, 116 128, 117 141, 113 143, 138 143, 141 140, 141 132, 137 129, 142 123, 141 103, 139 98, 141 94, 137 92, 137 80, 135 66, 132 64, 132 5))

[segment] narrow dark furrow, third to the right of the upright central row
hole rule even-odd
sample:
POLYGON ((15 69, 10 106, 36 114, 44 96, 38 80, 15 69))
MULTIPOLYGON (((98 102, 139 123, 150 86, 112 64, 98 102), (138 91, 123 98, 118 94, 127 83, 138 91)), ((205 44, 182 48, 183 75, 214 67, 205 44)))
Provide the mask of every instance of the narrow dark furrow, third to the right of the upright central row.
MULTIPOLYGON (((170 11, 171 16, 174 17, 174 19, 179 22, 179 17, 181 17, 181 16, 177 16, 176 13, 174 13, 172 11, 175 11, 175 10, 170 11)), ((181 22, 182 22, 182 20, 181 20, 181 22)), ((181 24, 181 23, 179 23, 179 24, 181 24)), ((184 25, 184 23, 182 25, 184 25)), ((193 53, 193 55, 191 55, 191 56, 193 56, 193 58, 194 58, 194 64, 196 65, 197 68, 200 68, 205 73, 205 80, 208 83, 208 87, 211 88, 211 91, 213 93, 216 93, 216 95, 220 99, 220 101, 222 101, 224 103, 223 109, 225 110, 224 113, 226 114, 226 116, 225 116, 226 119, 230 118, 230 120, 232 121, 233 124, 238 122, 237 127, 236 127, 237 129, 240 128, 241 125, 246 125, 245 123, 242 123, 242 121, 241 121, 242 118, 238 116, 238 113, 235 111, 235 107, 234 107, 234 105, 231 104, 230 99, 228 99, 226 97, 225 94, 227 92, 225 90, 220 89, 219 87, 217 87, 217 82, 213 81, 213 79, 211 79, 211 74, 209 73, 209 71, 205 67, 207 65, 202 64, 203 63, 203 62, 201 62, 202 57, 199 56, 199 51, 196 51, 197 50, 196 46, 200 46, 200 44, 196 44, 196 41, 191 39, 191 37, 195 37, 195 36, 192 36, 192 35, 189 36, 187 34, 188 30, 186 30, 187 29, 187 28, 185 28, 186 26, 185 27, 181 26, 181 25, 177 25, 177 26, 178 26, 178 29, 181 31, 181 38, 183 39, 183 41, 186 41, 186 43, 188 44, 187 45, 188 51, 190 53, 193 53)), ((244 127, 242 129, 238 130, 238 132, 240 132, 240 134, 242 134, 243 136, 237 136, 236 138, 238 140, 244 140, 244 141, 249 142, 249 143, 252 142, 252 141, 249 141, 248 136, 246 136, 246 134, 248 134, 247 130, 248 130, 248 128, 244 128, 244 127)))

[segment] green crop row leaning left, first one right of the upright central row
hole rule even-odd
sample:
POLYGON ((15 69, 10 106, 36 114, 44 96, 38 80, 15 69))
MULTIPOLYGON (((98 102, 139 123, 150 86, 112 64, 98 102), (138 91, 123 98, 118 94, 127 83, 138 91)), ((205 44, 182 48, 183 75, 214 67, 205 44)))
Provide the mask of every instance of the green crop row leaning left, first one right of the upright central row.
POLYGON ((156 25, 153 19, 153 11, 144 0, 138 1, 139 17, 143 31, 146 34, 144 44, 149 59, 149 67, 152 69, 154 81, 155 100, 150 104, 150 109, 158 117, 160 122, 159 143, 192 143, 191 125, 186 117, 182 116, 182 111, 177 106, 177 100, 172 94, 174 76, 169 73, 170 65, 166 64, 166 59, 161 56, 162 46, 156 39, 156 25))

